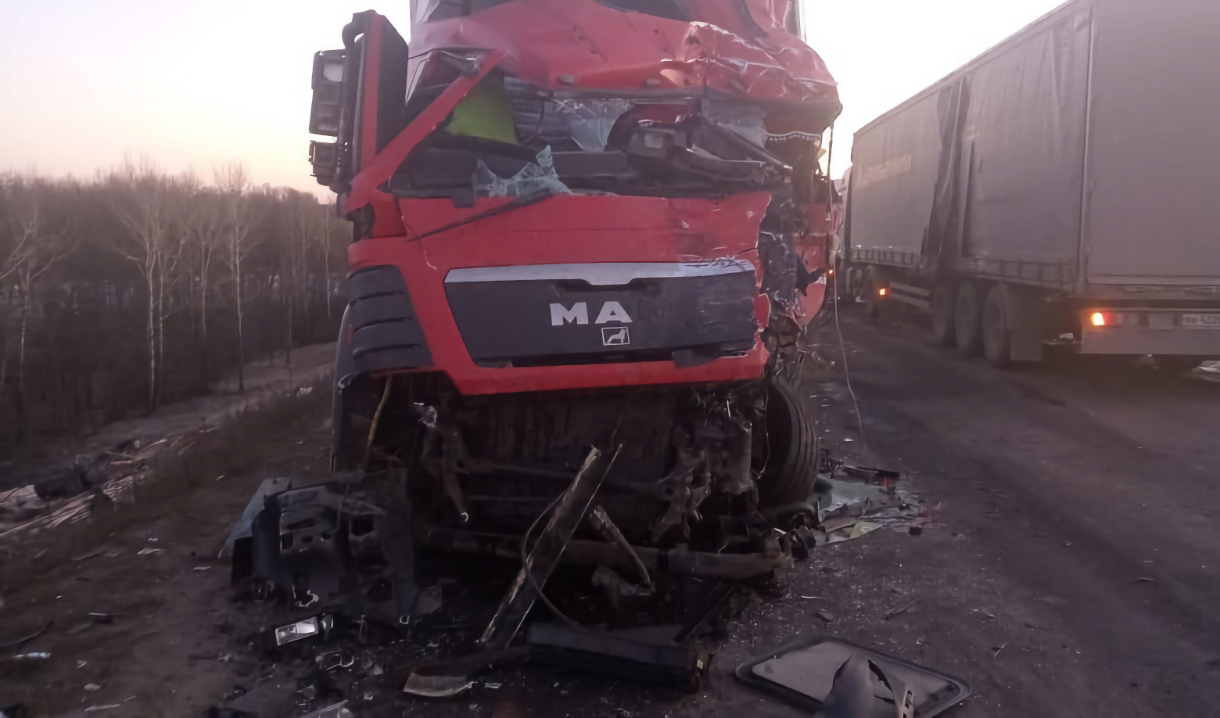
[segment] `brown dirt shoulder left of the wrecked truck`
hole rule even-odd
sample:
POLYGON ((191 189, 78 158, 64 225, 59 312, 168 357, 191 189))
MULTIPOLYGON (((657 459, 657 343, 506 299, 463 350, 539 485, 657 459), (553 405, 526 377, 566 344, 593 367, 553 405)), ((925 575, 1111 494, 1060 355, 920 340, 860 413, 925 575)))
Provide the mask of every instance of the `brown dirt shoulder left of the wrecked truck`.
POLYGON ((0 703, 49 717, 107 705, 118 707, 105 716, 195 716, 234 680, 255 678, 231 638, 229 568, 217 555, 262 479, 328 474, 323 394, 238 417, 167 464, 163 490, 78 529, 74 557, 6 581, 0 638, 50 625, 5 652, 50 658, 0 664, 0 703))

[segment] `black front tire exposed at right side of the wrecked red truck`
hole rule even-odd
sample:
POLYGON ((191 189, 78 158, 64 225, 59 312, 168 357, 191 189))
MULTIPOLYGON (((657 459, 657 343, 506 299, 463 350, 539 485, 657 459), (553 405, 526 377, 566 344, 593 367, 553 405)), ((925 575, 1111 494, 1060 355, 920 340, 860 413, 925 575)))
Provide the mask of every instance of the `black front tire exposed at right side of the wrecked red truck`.
POLYGON ((759 502, 766 508, 808 501, 817 483, 817 427, 803 393, 772 379, 767 386, 767 456, 759 478, 759 502))

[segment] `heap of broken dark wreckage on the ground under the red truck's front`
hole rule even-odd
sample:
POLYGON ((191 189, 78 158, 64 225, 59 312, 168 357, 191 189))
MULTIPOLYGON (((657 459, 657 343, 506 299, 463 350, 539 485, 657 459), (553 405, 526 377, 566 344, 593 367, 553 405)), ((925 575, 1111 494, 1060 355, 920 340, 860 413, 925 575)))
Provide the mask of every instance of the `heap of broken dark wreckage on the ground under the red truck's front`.
POLYGON ((722 538, 725 552, 639 545, 601 506, 614 464, 612 452, 590 450, 549 512, 520 535, 412 524, 406 502, 393 500, 401 477, 389 472, 309 486, 268 479, 226 547, 239 595, 279 607, 250 638, 277 659, 305 655, 311 670, 406 670, 401 690, 423 697, 460 695, 481 672, 526 661, 694 689, 714 634, 722 635, 745 590, 773 592, 776 572, 816 546, 866 533, 856 524, 905 529, 927 521, 898 474, 824 456, 809 503, 770 519, 759 514, 743 538, 722 538), (439 562, 428 562, 429 553, 439 562), (432 635, 428 622, 455 580, 440 574, 455 556, 470 557, 461 562, 467 580, 487 580, 497 566, 515 566, 515 578, 494 612, 467 613, 486 620, 481 634, 412 645, 432 635), (572 608, 581 620, 570 617, 572 608), (537 614, 527 623, 531 611, 537 614))

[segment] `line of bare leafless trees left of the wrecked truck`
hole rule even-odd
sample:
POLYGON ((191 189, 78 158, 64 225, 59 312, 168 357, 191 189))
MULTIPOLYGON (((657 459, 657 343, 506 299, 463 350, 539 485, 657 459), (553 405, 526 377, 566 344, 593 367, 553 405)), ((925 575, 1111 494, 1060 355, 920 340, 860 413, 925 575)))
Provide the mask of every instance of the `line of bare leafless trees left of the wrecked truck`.
POLYGON ((312 195, 128 163, 0 176, 0 455, 334 336, 350 229, 312 195))

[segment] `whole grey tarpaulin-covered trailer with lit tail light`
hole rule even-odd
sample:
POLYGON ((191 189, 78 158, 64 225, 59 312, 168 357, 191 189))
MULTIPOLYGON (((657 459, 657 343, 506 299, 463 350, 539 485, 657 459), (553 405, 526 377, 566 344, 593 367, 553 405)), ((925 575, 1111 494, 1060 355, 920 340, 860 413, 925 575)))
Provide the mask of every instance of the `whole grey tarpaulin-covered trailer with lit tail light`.
POLYGON ((863 128, 848 284, 999 364, 1220 354, 1207 27, 1211 0, 1069 2, 863 128))

